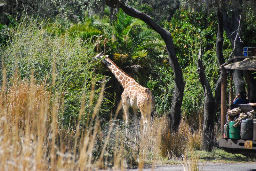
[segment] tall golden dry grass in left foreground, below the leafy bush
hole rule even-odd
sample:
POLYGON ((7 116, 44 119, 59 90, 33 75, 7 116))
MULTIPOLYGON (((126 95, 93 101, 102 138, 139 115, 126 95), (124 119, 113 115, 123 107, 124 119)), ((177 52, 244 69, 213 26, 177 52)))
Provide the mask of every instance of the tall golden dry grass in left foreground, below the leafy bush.
MULTIPOLYGON (((44 84, 36 85, 33 74, 30 83, 14 76, 13 85, 8 88, 4 75, 5 71, 0 96, 1 170, 97 170, 108 166, 104 164, 108 162, 104 155, 113 123, 110 122, 100 152, 94 154, 97 136, 101 134, 97 114, 104 87, 86 126, 79 122, 85 110, 82 103, 77 127, 70 129, 61 126, 58 97, 51 96, 44 84)), ((117 135, 116 139, 120 137, 117 135)), ((127 167, 122 148, 118 144, 113 149, 116 158, 110 162, 116 169, 127 167)))

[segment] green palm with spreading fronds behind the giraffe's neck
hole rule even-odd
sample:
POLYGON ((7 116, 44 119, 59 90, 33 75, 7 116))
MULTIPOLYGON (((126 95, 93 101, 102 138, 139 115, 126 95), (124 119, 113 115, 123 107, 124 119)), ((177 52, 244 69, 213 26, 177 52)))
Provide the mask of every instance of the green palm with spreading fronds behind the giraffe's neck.
MULTIPOLYGON (((147 5, 138 6, 137 8, 149 10, 147 5)), ((157 67, 157 65, 167 62, 165 43, 161 36, 149 28, 146 23, 125 14, 122 9, 116 14, 116 20, 111 24, 108 16, 100 18, 97 15, 89 16, 84 13, 77 19, 78 22, 68 29, 68 34, 80 36, 87 42, 90 40, 95 46, 95 51, 104 51, 120 68, 138 79, 142 85, 146 86, 151 77, 153 80, 160 80, 161 87, 167 86, 165 84, 168 83, 164 83, 158 76, 157 67)), ((106 71, 105 69, 101 70, 100 72, 106 71)), ((106 74, 112 75, 110 72, 106 74)), ((111 94, 115 92, 118 102, 122 87, 116 85, 119 83, 113 77, 108 82, 107 86, 111 88, 108 88, 107 91, 111 94)), ((159 89, 155 92, 164 94, 162 91, 159 89)))

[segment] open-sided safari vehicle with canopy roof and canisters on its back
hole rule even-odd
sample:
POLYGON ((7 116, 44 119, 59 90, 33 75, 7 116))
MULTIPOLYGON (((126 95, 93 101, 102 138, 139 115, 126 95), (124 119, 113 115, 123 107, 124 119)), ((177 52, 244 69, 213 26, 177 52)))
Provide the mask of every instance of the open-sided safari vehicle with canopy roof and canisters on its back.
MULTIPOLYGON (((253 136, 251 139, 231 139, 224 136, 224 125, 227 122, 227 111, 232 110, 236 107, 240 107, 242 112, 247 113, 248 111, 256 110, 256 106, 251 105, 240 105, 232 104, 232 77, 230 80, 230 97, 229 97, 229 109, 227 110, 227 74, 232 70, 245 70, 245 71, 256 71, 256 48, 244 48, 244 56, 234 56, 230 58, 221 66, 221 133, 222 138, 219 139, 219 147, 229 153, 239 153, 239 154, 252 154, 256 153, 256 138, 253 136), (245 53, 246 51, 247 53, 245 53), (250 50, 250 51, 248 51, 250 50), (248 56, 250 53, 253 56, 248 56), (242 58, 242 61, 232 62, 234 59, 242 58), (254 139, 253 139, 254 138, 254 139)), ((248 75, 248 74, 247 74, 248 75)), ((247 76, 248 82, 249 76, 247 76)), ((247 92, 250 92, 250 89, 247 89, 247 92)), ((250 94, 250 93, 248 93, 250 94)), ((255 118, 256 119, 256 118, 255 118)), ((254 134, 256 123, 254 121, 254 134)))

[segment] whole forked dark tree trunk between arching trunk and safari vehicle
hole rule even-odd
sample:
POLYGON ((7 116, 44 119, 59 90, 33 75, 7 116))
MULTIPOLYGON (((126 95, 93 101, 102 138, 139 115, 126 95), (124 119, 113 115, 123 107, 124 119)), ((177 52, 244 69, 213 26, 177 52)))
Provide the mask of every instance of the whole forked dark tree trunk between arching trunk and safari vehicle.
MULTIPOLYGON (((217 8, 218 18, 218 33, 216 40, 216 56, 219 64, 222 65, 225 60, 223 58, 223 14, 221 8, 217 8)), ((204 74, 202 60, 201 60, 201 49, 199 51, 197 72, 199 75, 200 83, 204 89, 204 122, 203 122, 203 141, 201 150, 212 151, 212 142, 214 141, 214 119, 216 112, 220 105, 221 98, 221 75, 215 85, 215 97, 213 98, 211 86, 206 79, 204 74)))

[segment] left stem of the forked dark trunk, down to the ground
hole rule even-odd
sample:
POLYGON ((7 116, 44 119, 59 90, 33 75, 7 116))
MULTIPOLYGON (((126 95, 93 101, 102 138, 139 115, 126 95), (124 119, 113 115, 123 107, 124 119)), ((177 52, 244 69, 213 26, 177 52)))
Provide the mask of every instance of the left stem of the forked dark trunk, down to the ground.
POLYGON ((201 150, 212 151, 212 143, 214 140, 214 118, 216 114, 216 101, 212 95, 211 85, 208 82, 204 73, 202 59, 201 59, 201 48, 198 55, 197 73, 199 75, 199 81, 204 89, 204 123, 203 123, 203 141, 201 150))

